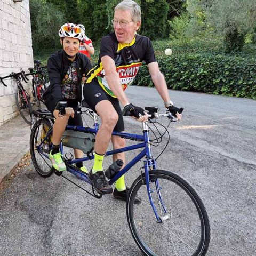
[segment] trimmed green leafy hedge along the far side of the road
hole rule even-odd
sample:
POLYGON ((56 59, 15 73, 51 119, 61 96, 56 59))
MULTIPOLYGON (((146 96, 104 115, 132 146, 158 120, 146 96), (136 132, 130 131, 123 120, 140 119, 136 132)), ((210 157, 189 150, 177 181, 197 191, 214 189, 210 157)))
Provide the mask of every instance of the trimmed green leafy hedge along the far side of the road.
MULTIPOLYGON (((158 55, 157 60, 169 89, 256 99, 256 58, 173 51, 170 57, 158 55)), ((146 65, 134 84, 153 86, 146 65)))

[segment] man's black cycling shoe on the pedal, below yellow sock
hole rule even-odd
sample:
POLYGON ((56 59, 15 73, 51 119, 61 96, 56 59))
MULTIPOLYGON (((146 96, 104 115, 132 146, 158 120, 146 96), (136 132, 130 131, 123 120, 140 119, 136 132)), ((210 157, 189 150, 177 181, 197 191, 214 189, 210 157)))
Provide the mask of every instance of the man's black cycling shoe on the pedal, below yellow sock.
POLYGON ((103 171, 99 171, 95 174, 92 173, 92 170, 89 172, 89 179, 93 183, 94 188, 100 194, 111 194, 113 192, 112 187, 109 185, 108 181, 105 178, 103 171))

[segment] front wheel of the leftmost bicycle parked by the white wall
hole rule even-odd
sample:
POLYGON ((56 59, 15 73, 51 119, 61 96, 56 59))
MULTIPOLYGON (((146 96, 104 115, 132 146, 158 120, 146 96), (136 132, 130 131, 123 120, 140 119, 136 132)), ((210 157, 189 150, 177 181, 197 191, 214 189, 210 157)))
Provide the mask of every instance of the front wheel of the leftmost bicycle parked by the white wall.
POLYGON ((26 90, 18 89, 17 92, 15 92, 15 102, 21 117, 27 124, 31 124, 30 113, 32 111, 32 105, 26 90))

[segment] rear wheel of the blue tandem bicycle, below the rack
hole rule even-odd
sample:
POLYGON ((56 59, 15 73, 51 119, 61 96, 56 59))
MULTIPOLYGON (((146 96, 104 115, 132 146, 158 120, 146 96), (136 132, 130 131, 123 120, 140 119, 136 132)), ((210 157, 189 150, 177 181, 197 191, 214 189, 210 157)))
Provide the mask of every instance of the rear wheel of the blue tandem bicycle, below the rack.
POLYGON ((52 163, 49 159, 52 135, 46 134, 51 131, 52 125, 46 119, 35 123, 30 134, 30 155, 36 171, 44 178, 53 173, 52 163))

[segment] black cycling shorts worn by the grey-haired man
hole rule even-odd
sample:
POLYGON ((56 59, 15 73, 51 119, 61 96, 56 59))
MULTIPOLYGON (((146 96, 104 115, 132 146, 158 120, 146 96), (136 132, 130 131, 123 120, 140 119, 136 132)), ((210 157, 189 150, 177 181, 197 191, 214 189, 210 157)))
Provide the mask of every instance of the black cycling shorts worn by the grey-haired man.
POLYGON ((90 106, 90 108, 97 113, 95 110, 95 106, 102 100, 108 100, 112 103, 118 114, 118 121, 114 128, 116 132, 124 131, 124 119, 122 115, 122 109, 119 104, 119 100, 108 95, 98 84, 96 81, 92 81, 91 83, 84 84, 83 88, 84 99, 86 103, 90 106))

